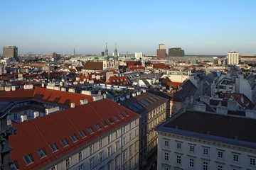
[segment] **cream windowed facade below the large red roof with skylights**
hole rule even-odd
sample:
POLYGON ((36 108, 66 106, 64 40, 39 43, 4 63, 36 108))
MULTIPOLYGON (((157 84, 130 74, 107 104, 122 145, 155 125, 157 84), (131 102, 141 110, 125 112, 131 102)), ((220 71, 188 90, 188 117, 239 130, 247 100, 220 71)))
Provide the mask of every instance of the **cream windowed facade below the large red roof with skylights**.
POLYGON ((139 169, 139 118, 43 169, 139 169))

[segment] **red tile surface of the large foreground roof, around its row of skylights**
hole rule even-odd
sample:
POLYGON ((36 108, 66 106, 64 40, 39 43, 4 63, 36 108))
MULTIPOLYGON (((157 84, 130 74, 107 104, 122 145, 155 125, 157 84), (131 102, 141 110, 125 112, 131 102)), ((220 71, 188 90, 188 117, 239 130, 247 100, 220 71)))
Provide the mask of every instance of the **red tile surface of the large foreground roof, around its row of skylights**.
POLYGON ((16 135, 9 137, 9 145, 13 148, 10 152, 12 162, 16 162, 20 169, 39 169, 47 166, 50 162, 64 159, 65 154, 75 151, 79 147, 87 145, 88 142, 95 140, 102 135, 110 132, 114 128, 127 123, 135 118, 139 118, 137 113, 130 111, 114 101, 105 99, 78 106, 76 108, 68 108, 65 111, 53 113, 28 122, 18 123, 14 125, 17 129, 16 135), (129 113, 126 116, 124 112, 129 113), (122 113, 124 118, 119 116, 122 113), (117 115, 119 121, 115 121, 113 116, 117 115), (110 124, 107 120, 112 118, 114 123, 110 124), (107 127, 104 128, 102 120, 105 120, 107 127), (101 130, 95 128, 99 124, 101 130), (87 128, 91 127, 95 132, 90 135, 87 128), (80 131, 83 130, 87 137, 82 138, 80 131), (78 142, 73 142, 71 135, 76 135, 78 142), (63 147, 60 140, 66 138, 68 146, 63 147), (58 151, 54 152, 50 149, 51 144, 58 146, 58 151), (38 149, 46 150, 46 157, 41 158, 38 149), (33 163, 26 165, 23 157, 31 154, 33 163))

